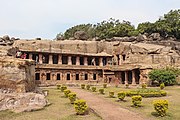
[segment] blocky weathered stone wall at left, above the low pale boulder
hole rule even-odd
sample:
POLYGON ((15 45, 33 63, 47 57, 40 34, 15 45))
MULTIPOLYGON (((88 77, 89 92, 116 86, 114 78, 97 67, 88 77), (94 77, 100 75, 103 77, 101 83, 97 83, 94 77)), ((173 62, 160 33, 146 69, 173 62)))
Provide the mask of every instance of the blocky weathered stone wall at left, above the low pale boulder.
POLYGON ((35 65, 31 60, 0 57, 0 88, 16 92, 35 89, 35 65))

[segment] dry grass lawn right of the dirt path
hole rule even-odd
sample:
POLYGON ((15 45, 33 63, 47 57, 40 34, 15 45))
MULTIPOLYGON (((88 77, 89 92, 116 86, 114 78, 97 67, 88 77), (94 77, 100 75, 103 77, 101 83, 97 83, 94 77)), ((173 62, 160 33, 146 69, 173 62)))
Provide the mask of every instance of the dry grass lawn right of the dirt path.
MULTIPOLYGON (((102 87, 97 87, 97 90, 102 87)), ((138 88, 140 89, 140 88, 138 88)), ((159 88, 154 88, 159 89, 159 88)), ((144 117, 153 119, 153 120, 180 120, 180 86, 170 86, 165 87, 165 91, 168 93, 165 97, 153 97, 153 98, 143 98, 142 99, 142 106, 139 108, 132 107, 131 97, 125 97, 124 101, 119 101, 117 98, 117 93, 120 91, 129 91, 129 90, 137 90, 136 87, 130 87, 128 89, 125 86, 120 87, 107 87, 105 88, 105 94, 101 95, 104 99, 110 100, 119 104, 121 107, 134 111, 136 113, 141 114, 144 117), (109 91, 115 92, 115 98, 109 98, 109 91), (158 117, 157 113, 153 107, 153 100, 157 99, 166 99, 169 101, 169 109, 167 112, 167 116, 165 117, 158 117)), ((98 92, 94 93, 96 95, 100 95, 98 92)))

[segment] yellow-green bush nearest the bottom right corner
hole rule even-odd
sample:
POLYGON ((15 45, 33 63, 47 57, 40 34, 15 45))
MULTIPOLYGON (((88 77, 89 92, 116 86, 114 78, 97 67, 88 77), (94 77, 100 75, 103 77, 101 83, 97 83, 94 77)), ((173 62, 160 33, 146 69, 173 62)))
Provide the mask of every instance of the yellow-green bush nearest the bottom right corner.
POLYGON ((159 116, 163 117, 166 115, 168 110, 168 101, 167 100, 154 100, 153 101, 154 109, 159 116))

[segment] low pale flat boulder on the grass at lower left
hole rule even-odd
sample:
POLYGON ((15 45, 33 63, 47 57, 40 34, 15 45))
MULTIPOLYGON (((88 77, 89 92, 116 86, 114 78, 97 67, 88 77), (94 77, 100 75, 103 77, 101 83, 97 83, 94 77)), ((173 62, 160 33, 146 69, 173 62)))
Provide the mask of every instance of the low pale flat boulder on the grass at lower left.
POLYGON ((0 93, 0 111, 25 112, 42 109, 48 105, 45 96, 37 93, 0 93))

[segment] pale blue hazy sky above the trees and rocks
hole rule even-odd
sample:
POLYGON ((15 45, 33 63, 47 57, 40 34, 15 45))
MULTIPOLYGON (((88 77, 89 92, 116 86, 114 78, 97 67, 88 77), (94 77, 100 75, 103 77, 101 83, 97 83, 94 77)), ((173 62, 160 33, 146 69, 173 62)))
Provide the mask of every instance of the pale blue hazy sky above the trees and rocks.
POLYGON ((154 22, 180 0, 0 0, 0 36, 54 39, 66 29, 109 18, 154 22))

